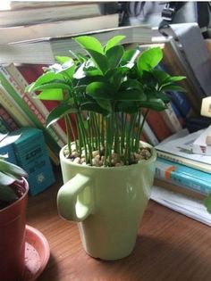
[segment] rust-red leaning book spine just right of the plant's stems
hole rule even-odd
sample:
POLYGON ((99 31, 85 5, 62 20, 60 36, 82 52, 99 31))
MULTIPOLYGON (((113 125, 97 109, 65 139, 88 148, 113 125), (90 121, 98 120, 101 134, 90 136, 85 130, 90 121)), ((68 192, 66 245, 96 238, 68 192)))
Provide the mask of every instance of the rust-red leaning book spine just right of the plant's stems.
POLYGON ((147 116, 148 125, 152 128, 158 141, 164 140, 166 137, 171 136, 172 132, 167 127, 165 120, 160 112, 150 111, 147 116))

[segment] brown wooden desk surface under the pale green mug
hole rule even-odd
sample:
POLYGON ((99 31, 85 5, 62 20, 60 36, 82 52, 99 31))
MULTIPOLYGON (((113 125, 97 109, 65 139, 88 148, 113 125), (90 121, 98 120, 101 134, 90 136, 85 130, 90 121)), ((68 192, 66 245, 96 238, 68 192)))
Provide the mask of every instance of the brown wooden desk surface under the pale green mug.
MULTIPOLYGON (((131 256, 95 260, 84 252, 76 223, 57 215, 58 186, 30 197, 27 223, 49 242, 38 281, 210 281, 211 228, 150 201, 131 256)), ((125 226, 126 227, 126 226, 125 226)))

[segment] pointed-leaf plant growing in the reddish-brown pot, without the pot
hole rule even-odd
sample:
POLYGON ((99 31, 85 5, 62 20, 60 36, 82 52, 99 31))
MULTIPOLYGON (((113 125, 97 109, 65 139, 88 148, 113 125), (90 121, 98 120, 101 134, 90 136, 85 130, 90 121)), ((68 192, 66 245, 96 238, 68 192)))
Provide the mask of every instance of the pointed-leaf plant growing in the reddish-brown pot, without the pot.
MULTIPOLYGON (((20 135, 0 136, 0 147, 13 143, 20 135)), ((7 161, 6 154, 0 155, 0 209, 20 198, 20 191, 17 189, 22 177, 26 178, 27 173, 21 167, 7 161), (16 183, 16 186, 14 186, 16 183)))

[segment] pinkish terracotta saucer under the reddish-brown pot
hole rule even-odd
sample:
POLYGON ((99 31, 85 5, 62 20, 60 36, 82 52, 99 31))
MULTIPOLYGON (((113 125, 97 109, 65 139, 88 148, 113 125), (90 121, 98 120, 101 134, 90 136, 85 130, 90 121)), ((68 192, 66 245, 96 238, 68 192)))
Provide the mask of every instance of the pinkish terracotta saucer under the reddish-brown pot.
POLYGON ((38 229, 26 226, 25 272, 22 281, 36 280, 46 268, 49 257, 46 237, 38 229))

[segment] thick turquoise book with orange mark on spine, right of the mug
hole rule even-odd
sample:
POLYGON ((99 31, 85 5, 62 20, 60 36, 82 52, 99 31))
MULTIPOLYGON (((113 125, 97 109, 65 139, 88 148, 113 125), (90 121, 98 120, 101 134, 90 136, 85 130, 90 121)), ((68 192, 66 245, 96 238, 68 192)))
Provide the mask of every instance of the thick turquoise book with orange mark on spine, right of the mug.
POLYGON ((211 193, 211 176, 209 173, 193 169, 173 161, 157 158, 156 179, 190 189, 199 194, 211 193))

